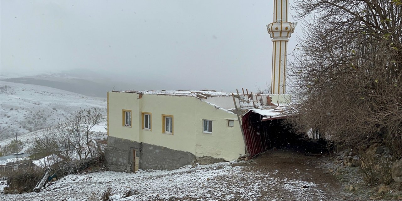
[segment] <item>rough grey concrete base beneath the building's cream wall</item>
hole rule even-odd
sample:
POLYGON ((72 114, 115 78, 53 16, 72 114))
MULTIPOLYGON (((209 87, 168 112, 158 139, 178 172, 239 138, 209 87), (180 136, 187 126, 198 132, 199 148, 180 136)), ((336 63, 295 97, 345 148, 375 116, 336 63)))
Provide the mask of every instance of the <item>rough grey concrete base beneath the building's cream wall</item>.
MULTIPOLYGON (((113 171, 131 172, 133 170, 133 150, 137 152, 139 169, 142 170, 172 170, 193 164, 197 158, 190 152, 109 136, 107 148, 105 148, 107 168, 113 171)), ((217 159, 211 158, 211 162, 215 162, 213 160, 217 159)), ((203 163, 207 162, 203 161, 203 163)))

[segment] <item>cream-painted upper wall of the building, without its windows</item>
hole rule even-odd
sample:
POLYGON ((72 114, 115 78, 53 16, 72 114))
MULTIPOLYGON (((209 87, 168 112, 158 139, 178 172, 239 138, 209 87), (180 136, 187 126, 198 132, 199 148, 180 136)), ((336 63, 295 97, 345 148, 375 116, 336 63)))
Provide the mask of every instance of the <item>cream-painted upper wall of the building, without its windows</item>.
POLYGON ((110 136, 225 160, 244 154, 240 125, 233 113, 195 97, 143 94, 137 98, 135 93, 109 92, 110 136), (132 128, 122 126, 122 109, 132 111, 132 128), (141 112, 152 113, 151 131, 142 129, 141 112), (173 115, 173 135, 162 133, 162 114, 173 115), (203 119, 213 120, 211 134, 203 133, 203 119), (227 127, 227 119, 235 120, 234 127, 227 127))

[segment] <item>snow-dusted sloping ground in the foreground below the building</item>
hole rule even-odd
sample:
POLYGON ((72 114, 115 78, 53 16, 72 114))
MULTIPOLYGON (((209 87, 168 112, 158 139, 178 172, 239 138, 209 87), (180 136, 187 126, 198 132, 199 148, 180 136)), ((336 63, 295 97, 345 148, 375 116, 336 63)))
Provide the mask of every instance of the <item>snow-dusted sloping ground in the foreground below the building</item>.
POLYGON ((279 170, 260 172, 246 162, 185 166, 176 170, 137 173, 96 172, 68 175, 40 193, 0 195, 1 200, 100 200, 111 188, 113 200, 320 200, 326 195, 316 184, 280 178, 279 170), (131 190, 135 195, 124 197, 131 190), (320 199, 318 199, 320 198, 320 199))

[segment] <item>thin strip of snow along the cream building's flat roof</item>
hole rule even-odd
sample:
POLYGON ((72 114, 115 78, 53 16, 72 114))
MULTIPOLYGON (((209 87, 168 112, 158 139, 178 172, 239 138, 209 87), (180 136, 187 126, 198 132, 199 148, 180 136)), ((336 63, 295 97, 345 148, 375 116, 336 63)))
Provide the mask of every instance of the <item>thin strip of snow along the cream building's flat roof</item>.
POLYGON ((144 91, 113 91, 113 92, 129 92, 137 94, 156 94, 156 95, 170 95, 170 96, 232 96, 232 93, 217 92, 216 90, 144 90, 144 91), (198 94, 198 95, 197 95, 198 94))

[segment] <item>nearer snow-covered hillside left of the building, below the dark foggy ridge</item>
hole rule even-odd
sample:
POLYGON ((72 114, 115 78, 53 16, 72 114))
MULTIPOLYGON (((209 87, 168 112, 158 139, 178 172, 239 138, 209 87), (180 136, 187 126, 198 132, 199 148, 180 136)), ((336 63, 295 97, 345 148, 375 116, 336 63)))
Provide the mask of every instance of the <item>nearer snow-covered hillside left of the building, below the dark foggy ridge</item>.
POLYGON ((106 115, 106 98, 0 81, 0 140, 56 125, 66 115, 91 107, 106 115))

